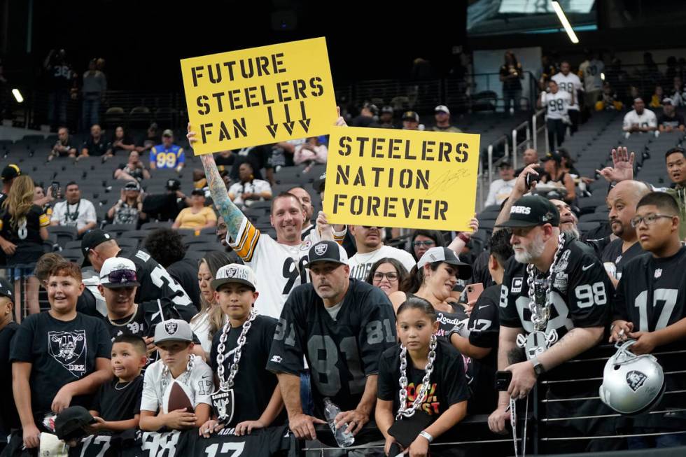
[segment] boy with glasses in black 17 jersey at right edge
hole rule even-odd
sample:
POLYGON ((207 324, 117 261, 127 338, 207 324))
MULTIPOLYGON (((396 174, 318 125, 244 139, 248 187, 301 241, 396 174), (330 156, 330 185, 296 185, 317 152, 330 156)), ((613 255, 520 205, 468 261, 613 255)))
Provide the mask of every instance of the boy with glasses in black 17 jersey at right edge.
POLYGON ((665 391, 670 393, 653 408, 659 414, 642 414, 633 419, 629 449, 686 445, 683 412, 686 408, 686 248, 679 237, 679 206, 664 192, 645 195, 636 207, 631 225, 647 253, 624 266, 612 307, 610 342, 636 339, 629 349, 637 355, 654 353, 665 373, 665 391), (677 354, 672 354, 678 352, 677 354))

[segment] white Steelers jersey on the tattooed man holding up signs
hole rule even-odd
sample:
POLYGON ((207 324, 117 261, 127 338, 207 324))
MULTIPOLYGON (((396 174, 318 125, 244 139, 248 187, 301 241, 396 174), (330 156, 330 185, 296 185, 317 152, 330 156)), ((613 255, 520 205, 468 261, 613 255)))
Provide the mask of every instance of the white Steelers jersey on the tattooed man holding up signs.
MULTIPOLYGON (((234 251, 251 267, 257 276, 260 296, 255 301, 255 309, 262 316, 278 319, 288 294, 295 286, 309 282, 307 265, 309 248, 321 241, 319 231, 312 230, 297 245, 290 246, 260 233, 248 218, 244 217, 232 242, 229 235, 226 241, 234 251)), ((339 243, 341 239, 336 239, 339 243)))

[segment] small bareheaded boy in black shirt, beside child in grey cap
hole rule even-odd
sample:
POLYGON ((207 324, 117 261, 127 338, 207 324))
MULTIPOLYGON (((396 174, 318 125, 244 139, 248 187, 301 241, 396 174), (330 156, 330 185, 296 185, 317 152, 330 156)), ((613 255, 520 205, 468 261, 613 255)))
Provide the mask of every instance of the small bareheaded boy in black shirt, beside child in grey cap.
POLYGON ((90 414, 95 422, 89 433, 123 432, 138 428, 143 395, 141 370, 148 356, 146 342, 136 335, 120 335, 112 343, 114 379, 106 382, 95 395, 90 414))

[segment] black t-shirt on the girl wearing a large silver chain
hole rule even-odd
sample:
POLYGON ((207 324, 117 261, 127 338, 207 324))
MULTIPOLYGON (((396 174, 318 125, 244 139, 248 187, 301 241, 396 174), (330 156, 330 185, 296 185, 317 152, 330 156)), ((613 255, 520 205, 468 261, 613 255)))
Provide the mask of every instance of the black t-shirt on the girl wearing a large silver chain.
MULTIPOLYGON (((406 407, 412 406, 424 374, 426 374, 425 370, 414 367, 408 353, 406 407)), ((462 356, 444 339, 438 339, 430 384, 427 398, 421 402, 419 409, 430 416, 434 416, 434 421, 449 407, 463 402, 469 397, 462 356)), ((395 344, 386 349, 381 355, 377 388, 379 400, 393 400, 393 414, 395 415, 400 407, 398 395, 400 391, 400 344, 395 344)))

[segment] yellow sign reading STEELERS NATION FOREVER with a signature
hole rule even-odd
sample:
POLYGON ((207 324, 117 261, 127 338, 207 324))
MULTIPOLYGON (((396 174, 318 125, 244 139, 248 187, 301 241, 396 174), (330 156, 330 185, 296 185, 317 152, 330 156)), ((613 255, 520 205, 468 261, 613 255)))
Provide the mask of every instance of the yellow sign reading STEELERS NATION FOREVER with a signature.
POLYGON ((331 127, 324 212, 330 223, 469 230, 479 135, 331 127))

